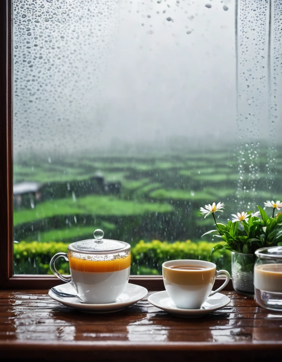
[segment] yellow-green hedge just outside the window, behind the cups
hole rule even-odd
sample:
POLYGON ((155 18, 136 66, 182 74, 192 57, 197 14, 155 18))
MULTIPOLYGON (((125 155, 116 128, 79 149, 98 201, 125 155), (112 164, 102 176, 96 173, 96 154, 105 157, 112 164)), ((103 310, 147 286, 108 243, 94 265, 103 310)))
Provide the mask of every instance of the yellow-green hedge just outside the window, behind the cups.
MULTIPOLYGON (((14 244, 14 273, 15 274, 52 274, 49 263, 51 258, 59 252, 67 253, 67 243, 30 243, 21 241, 14 244)), ((199 241, 198 243, 187 241, 153 240, 145 243, 141 240, 131 249, 131 274, 159 275, 162 273, 162 263, 173 259, 198 259, 208 260, 213 243, 199 241)), ((211 261, 217 265, 217 269, 226 269, 230 272, 230 253, 220 250, 214 253, 211 261)), ((69 264, 63 258, 56 262, 59 273, 69 274, 69 264)))

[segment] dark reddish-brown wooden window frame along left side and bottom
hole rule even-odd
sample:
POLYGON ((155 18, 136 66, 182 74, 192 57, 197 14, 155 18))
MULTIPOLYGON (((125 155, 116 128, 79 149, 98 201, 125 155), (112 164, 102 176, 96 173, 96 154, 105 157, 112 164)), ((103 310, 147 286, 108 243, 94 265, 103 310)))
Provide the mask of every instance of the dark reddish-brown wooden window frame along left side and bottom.
MULTIPOLYGON (((13 68, 12 0, 0 0, 0 289, 49 289, 55 275, 13 274, 13 68)), ((223 283, 217 278, 215 287, 223 283)), ((130 283, 164 290, 161 276, 131 275, 130 283)), ((227 290, 232 290, 231 282, 227 290)))

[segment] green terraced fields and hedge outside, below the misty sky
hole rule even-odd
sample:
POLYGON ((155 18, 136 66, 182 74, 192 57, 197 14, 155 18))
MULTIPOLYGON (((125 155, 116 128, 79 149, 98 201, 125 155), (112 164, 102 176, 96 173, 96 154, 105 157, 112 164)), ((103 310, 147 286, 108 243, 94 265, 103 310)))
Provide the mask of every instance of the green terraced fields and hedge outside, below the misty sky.
MULTIPOLYGON (((207 260, 217 241, 208 235, 201 239, 213 228, 213 218, 200 215, 201 206, 224 202, 217 216, 225 222, 237 211, 282 199, 282 157, 275 159, 271 184, 266 160, 261 151, 259 171, 251 175, 255 188, 249 187, 249 164, 240 167, 231 152, 16 161, 14 272, 50 273, 55 253, 92 238, 97 228, 107 239, 131 244, 132 274, 160 274, 169 258, 207 260)), ((227 251, 216 252, 212 260, 230 270, 227 251)), ((67 263, 58 268, 68 272, 67 263)))

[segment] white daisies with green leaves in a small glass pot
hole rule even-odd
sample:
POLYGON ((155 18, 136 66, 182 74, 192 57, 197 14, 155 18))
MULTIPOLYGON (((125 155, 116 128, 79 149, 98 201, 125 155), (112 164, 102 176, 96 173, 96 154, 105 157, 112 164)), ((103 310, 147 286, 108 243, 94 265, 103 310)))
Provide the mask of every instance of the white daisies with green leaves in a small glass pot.
POLYGON ((224 203, 215 202, 212 205, 201 207, 200 211, 205 218, 212 215, 215 220, 215 230, 210 230, 202 236, 212 233, 219 237, 225 244, 216 244, 211 255, 220 249, 231 251, 231 270, 233 289, 242 294, 254 294, 253 272, 255 254, 254 252, 263 247, 282 245, 282 213, 276 216, 275 210, 282 208, 282 202, 267 201, 266 207, 272 207, 273 212, 270 217, 267 216, 264 209, 260 206, 258 211, 238 212, 232 214, 233 219, 227 224, 217 223, 215 212, 223 211, 224 203))

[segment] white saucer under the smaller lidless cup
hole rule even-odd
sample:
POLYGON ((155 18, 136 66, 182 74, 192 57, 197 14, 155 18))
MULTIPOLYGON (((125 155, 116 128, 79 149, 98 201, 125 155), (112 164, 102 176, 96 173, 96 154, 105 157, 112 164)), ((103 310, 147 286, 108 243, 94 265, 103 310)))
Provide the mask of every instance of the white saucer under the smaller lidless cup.
POLYGON ((167 291, 163 290, 149 295, 148 302, 155 307, 178 317, 199 317, 227 306, 227 304, 230 303, 230 298, 224 294, 216 293, 215 295, 208 297, 206 302, 204 302, 199 309, 182 309, 177 308, 167 295, 167 291))

